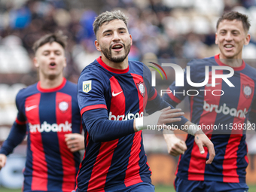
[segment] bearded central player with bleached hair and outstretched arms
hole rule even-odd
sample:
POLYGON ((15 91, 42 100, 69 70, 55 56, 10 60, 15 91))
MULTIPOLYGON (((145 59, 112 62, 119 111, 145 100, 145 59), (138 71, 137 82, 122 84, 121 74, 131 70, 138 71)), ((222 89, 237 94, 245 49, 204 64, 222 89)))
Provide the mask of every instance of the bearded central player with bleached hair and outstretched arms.
MULTIPOLYGON (((146 125, 191 123, 151 87, 151 72, 142 62, 128 61, 133 41, 122 12, 100 14, 93 29, 102 56, 85 67, 78 79, 86 146, 75 191, 154 191, 140 130, 146 125), (151 115, 143 117, 146 105, 151 115)), ((201 153, 203 145, 211 151, 207 161, 211 163, 212 143, 192 130, 201 153)))

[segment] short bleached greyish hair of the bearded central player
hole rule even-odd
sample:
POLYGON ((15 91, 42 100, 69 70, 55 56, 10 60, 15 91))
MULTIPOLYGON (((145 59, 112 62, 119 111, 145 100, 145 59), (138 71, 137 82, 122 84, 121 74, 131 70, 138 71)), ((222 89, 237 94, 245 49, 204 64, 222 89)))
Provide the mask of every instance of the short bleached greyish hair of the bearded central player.
POLYGON ((105 11, 104 13, 96 17, 96 19, 93 22, 94 34, 96 35, 96 33, 99 30, 99 27, 102 26, 103 23, 110 22, 111 20, 123 20, 123 23, 127 27, 128 17, 126 17, 125 14, 123 14, 123 12, 121 12, 120 10, 111 12, 105 11))

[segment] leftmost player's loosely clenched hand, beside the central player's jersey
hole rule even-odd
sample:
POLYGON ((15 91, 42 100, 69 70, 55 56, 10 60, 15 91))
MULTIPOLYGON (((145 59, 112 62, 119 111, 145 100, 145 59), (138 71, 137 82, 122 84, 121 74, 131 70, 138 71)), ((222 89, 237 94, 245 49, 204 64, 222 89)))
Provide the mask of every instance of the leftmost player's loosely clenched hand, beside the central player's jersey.
POLYGON ((79 133, 69 133, 65 135, 66 145, 72 152, 84 149, 84 136, 79 133))

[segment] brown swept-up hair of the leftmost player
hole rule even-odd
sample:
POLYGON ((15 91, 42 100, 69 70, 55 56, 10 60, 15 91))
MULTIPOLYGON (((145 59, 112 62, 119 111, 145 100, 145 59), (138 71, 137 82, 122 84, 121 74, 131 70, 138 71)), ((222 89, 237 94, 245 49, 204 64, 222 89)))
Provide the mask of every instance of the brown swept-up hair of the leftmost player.
POLYGON ((60 44, 63 49, 65 50, 66 46, 67 46, 67 36, 63 35, 62 31, 59 32, 54 32, 54 33, 50 33, 47 35, 42 36, 41 38, 38 39, 38 41, 35 41, 32 49, 34 50, 34 52, 36 52, 38 50, 39 47, 43 46, 44 44, 47 43, 53 43, 56 42, 58 44, 60 44))

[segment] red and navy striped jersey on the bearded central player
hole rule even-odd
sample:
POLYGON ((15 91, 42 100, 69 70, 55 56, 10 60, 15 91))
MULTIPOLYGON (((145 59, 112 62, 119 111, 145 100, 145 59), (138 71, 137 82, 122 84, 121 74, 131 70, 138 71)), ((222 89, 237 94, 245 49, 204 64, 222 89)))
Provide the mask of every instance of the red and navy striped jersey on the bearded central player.
POLYGON ((133 119, 143 116, 146 105, 148 113, 169 105, 151 87, 150 70, 135 61, 129 61, 127 69, 113 69, 99 57, 78 79, 78 105, 86 149, 76 191, 151 183, 142 131, 134 132, 133 119))

